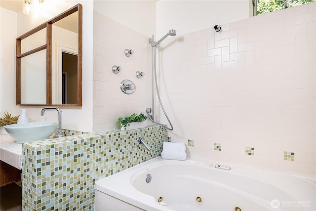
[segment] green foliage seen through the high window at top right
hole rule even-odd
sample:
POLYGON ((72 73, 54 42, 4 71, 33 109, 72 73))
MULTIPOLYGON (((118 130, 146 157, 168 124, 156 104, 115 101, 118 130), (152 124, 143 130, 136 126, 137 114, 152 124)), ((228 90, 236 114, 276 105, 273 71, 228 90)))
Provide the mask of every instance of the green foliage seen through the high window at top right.
POLYGON ((292 7, 298 6, 316 0, 256 0, 257 1, 257 15, 292 7))

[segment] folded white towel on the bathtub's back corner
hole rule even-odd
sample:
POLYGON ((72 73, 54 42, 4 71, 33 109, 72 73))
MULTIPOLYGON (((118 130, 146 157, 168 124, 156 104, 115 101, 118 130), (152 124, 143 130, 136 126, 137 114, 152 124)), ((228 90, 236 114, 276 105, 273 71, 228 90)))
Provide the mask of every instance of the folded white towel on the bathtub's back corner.
POLYGON ((186 145, 184 143, 163 142, 161 158, 180 161, 186 160, 186 145))

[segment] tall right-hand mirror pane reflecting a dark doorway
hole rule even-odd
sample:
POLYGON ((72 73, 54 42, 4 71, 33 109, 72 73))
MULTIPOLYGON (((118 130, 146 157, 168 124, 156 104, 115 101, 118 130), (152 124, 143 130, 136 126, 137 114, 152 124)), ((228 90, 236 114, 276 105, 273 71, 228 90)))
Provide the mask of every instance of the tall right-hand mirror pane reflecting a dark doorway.
POLYGON ((52 104, 76 104, 78 12, 52 26, 52 104))

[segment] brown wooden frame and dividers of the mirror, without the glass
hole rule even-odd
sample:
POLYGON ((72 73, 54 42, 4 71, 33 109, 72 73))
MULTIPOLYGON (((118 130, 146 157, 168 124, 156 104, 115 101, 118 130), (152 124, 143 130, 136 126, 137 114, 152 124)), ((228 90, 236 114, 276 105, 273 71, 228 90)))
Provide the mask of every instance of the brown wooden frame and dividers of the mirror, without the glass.
POLYGON ((82 106, 82 5, 77 4, 65 12, 57 15, 51 20, 41 24, 40 26, 32 29, 24 35, 16 39, 16 105, 32 105, 42 106, 42 104, 21 104, 21 58, 24 56, 36 53, 40 50, 46 49, 46 104, 44 105, 57 105, 52 104, 52 88, 51 88, 51 66, 52 66, 52 24, 63 19, 64 17, 78 11, 78 90, 77 90, 77 104, 61 104, 58 106, 82 106), (46 44, 27 51, 21 54, 21 41, 34 33, 46 28, 46 44))

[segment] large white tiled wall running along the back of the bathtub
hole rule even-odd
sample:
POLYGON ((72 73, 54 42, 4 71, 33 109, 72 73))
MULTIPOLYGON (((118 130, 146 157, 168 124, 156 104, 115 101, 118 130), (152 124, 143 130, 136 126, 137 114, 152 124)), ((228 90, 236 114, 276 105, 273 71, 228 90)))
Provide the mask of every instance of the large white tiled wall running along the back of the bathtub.
POLYGON ((169 37, 158 52, 168 134, 194 140, 189 155, 316 177, 316 3, 169 37))

